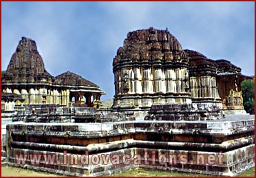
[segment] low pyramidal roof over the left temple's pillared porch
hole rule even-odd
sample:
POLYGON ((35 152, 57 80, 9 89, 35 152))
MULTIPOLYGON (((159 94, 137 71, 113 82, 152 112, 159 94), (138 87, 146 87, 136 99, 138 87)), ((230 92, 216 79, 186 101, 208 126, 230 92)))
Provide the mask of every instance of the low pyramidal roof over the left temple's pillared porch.
POLYGON ((58 79, 61 82, 61 84, 67 86, 89 86, 99 88, 99 86, 92 83, 92 81, 84 79, 80 75, 77 75, 70 71, 67 71, 65 73, 62 73, 61 75, 56 76, 56 79, 58 79))

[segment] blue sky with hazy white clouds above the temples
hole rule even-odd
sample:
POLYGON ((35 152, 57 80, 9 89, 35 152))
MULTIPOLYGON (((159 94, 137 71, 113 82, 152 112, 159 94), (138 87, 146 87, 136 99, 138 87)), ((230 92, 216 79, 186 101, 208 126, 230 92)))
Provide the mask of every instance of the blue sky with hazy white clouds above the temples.
POLYGON ((254 2, 2 2, 1 66, 22 36, 36 41, 46 70, 72 71, 114 96, 112 62, 129 31, 166 29, 182 49, 255 73, 254 2))

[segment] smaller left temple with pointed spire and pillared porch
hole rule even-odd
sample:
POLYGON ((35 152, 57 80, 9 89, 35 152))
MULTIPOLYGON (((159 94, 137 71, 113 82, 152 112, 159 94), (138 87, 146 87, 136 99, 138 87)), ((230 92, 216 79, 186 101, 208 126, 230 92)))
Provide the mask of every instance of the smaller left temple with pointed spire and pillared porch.
POLYGON ((45 70, 36 42, 25 37, 19 41, 1 81, 2 93, 21 96, 24 105, 68 107, 78 103, 100 107, 100 96, 105 94, 96 84, 70 71, 57 77, 50 75, 45 70))

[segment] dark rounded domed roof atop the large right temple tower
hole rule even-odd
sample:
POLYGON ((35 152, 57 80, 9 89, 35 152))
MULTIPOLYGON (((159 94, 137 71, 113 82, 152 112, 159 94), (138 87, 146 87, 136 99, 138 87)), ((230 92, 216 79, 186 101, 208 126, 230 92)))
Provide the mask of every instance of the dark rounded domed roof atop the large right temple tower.
POLYGON ((169 56, 181 56, 180 42, 167 30, 139 29, 131 31, 114 58, 113 65, 121 61, 170 60, 169 56))

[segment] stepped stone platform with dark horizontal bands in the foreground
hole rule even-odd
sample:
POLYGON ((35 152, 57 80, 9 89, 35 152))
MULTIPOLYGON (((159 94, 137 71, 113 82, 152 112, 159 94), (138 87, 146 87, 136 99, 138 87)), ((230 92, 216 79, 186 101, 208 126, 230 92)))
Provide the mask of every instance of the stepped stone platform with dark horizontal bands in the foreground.
POLYGON ((100 176, 141 167, 234 176, 255 164, 254 116, 15 123, 6 132, 9 166, 62 175, 100 176), (21 155, 28 155, 23 163, 17 162, 21 155), (34 164, 34 155, 55 155, 56 162, 42 158, 34 164))

